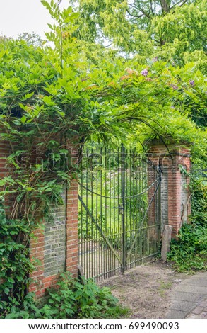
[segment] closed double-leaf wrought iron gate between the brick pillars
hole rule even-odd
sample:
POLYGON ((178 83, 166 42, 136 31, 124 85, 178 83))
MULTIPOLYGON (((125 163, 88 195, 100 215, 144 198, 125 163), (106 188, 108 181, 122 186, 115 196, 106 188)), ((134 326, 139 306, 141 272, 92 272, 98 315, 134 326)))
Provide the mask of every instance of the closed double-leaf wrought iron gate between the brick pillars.
POLYGON ((131 150, 88 149, 79 178, 79 264, 85 277, 123 273, 160 246, 160 172, 131 150))

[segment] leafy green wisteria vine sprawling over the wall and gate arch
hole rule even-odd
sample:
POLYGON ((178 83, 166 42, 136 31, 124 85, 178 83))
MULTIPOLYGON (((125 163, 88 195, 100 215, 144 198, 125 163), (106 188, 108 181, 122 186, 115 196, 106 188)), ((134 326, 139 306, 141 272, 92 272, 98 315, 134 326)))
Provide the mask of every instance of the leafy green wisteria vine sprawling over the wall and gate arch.
MULTIPOLYGON (((100 4, 92 2, 93 6, 100 4)), ((126 1, 112 2, 105 5, 112 9, 126 1)), ((13 191, 13 184, 18 184, 18 206, 27 200, 25 205, 33 216, 35 205, 32 210, 29 207, 34 196, 46 202, 48 193, 60 193, 59 184, 67 179, 67 170, 55 168, 56 181, 54 174, 48 174, 45 184, 38 164, 25 174, 25 164, 20 161, 24 154, 30 161, 34 145, 44 154, 52 153, 57 162, 66 142, 93 139, 143 145, 153 137, 165 142, 173 138, 177 143, 194 142, 194 161, 205 161, 206 79, 199 61, 179 66, 153 55, 144 62, 136 54, 129 59, 113 48, 78 38, 81 14, 72 6, 61 11, 55 1, 42 4, 56 21, 46 33, 54 47, 34 45, 23 38, 0 42, 1 140, 11 142, 9 162, 19 176, 3 179, 0 185, 13 191)), ((55 195, 51 198, 56 200, 55 195)), ((16 213, 24 215, 14 208, 13 218, 16 213)))

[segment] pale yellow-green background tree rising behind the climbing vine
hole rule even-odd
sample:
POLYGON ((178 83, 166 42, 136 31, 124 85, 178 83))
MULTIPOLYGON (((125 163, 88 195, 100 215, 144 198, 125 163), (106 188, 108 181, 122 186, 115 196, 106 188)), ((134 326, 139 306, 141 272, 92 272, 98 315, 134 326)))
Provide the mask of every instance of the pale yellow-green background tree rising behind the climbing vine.
POLYGON ((126 57, 138 53, 142 61, 160 55, 183 62, 185 52, 206 51, 206 0, 71 2, 80 13, 79 37, 102 45, 108 40, 126 57))

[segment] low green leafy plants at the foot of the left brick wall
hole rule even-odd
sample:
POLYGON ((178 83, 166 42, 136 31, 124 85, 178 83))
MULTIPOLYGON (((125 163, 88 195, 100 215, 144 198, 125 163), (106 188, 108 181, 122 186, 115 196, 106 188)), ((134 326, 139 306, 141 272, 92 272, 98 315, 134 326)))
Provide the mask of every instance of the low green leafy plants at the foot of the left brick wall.
POLYGON ((23 306, 13 304, 7 309, 9 318, 111 318, 122 317, 127 310, 118 305, 109 288, 98 287, 92 280, 78 281, 67 273, 61 275, 58 288, 48 290, 47 303, 37 306, 32 293, 25 297, 23 306))

